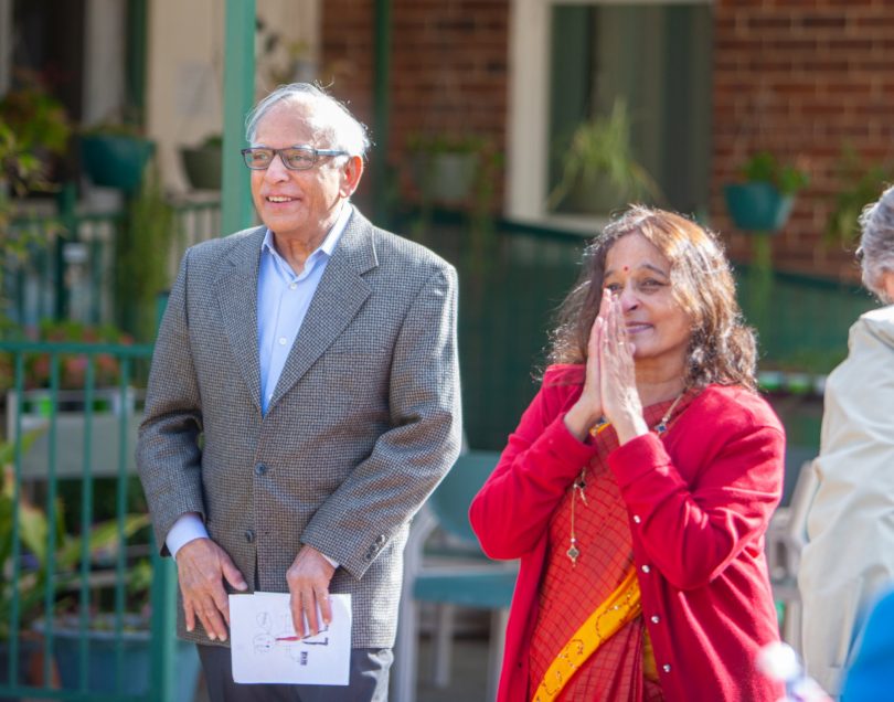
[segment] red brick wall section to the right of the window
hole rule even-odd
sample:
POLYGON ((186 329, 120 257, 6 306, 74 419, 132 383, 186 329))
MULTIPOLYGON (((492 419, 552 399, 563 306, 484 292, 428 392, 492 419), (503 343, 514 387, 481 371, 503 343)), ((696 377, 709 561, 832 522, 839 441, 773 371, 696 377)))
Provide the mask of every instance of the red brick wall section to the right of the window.
MULTIPOLYGON (((822 243, 849 142, 890 159, 894 137, 894 3, 887 0, 719 0, 715 7, 712 213, 734 233, 722 185, 753 152, 807 168, 811 185, 774 241, 779 268, 855 279, 850 252, 822 243)), ((881 190, 881 183, 880 183, 881 190)))

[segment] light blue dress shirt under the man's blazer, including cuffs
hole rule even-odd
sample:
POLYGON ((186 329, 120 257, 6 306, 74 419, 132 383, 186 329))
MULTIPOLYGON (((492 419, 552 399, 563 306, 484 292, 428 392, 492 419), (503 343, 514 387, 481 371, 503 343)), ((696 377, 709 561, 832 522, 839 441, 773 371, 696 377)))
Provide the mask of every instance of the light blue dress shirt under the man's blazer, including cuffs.
MULTIPOLYGON (((320 284, 329 258, 341 238, 353 206, 344 203, 338 220, 320 244, 305 262, 304 270, 296 275, 274 246, 273 232, 267 230, 260 245, 257 272, 257 340, 260 363, 260 412, 267 414, 276 384, 283 374, 305 316, 320 284)), ((177 557, 177 552, 193 539, 207 536, 202 518, 187 512, 173 523, 164 543, 177 557)), ((323 554, 326 555, 326 554, 323 554)), ((338 565, 329 556, 326 559, 338 565)))

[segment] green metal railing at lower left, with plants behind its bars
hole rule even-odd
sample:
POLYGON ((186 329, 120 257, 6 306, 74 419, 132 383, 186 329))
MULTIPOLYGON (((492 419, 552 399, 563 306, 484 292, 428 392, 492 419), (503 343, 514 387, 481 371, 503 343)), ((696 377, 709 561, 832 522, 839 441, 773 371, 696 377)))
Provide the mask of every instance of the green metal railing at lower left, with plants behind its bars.
POLYGON ((149 345, 0 342, 13 370, 0 498, 0 698, 192 699, 192 647, 175 657, 175 576, 157 555, 134 476, 149 345), (35 361, 50 384, 28 387, 35 361), (62 387, 65 363, 83 385, 62 387), (111 387, 97 387, 99 365, 111 387), (108 450, 111 446, 111 450, 108 450), (73 469, 73 465, 77 469, 73 469), (137 609, 139 607, 139 609, 137 609), (187 666, 191 670, 174 666, 187 666), (190 678, 191 676, 191 678, 190 678))

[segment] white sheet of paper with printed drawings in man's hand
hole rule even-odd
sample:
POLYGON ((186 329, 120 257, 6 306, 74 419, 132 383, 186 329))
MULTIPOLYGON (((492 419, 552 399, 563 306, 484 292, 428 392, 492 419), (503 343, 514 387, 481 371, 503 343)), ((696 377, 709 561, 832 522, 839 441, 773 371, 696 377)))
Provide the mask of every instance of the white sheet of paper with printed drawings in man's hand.
MULTIPOLYGON (((233 680, 347 685, 351 668, 351 596, 330 595, 332 624, 299 639, 284 593, 230 595, 233 680)), ((320 621, 322 618, 320 618, 320 621)))

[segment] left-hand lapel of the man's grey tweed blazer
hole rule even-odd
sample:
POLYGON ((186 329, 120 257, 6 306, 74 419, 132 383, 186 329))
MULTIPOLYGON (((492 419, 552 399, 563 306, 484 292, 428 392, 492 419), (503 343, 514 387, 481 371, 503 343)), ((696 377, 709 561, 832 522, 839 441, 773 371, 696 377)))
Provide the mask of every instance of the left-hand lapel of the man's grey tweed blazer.
POLYGON ((230 268, 214 281, 221 319, 236 366, 260 412, 260 365, 257 348, 257 273, 266 227, 251 232, 230 253, 230 268))

